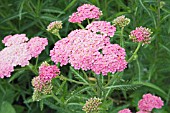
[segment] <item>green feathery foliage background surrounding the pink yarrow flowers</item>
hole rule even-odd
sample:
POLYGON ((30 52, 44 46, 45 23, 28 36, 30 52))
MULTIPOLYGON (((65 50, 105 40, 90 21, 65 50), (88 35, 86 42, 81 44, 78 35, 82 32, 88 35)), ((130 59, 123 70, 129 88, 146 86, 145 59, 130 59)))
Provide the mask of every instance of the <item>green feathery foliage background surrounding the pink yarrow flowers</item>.
MULTIPOLYGON (((115 90, 112 91, 110 99, 103 102, 103 113, 116 113, 126 107, 136 111, 137 102, 145 93, 159 95, 164 100, 164 107, 155 110, 155 113, 170 113, 169 0, 0 0, 0 39, 16 33, 25 33, 29 38, 47 37, 49 45, 39 57, 40 65, 42 61, 49 60, 49 51, 58 40, 56 36, 46 31, 46 26, 55 20, 63 21, 60 35, 66 37, 71 30, 78 28, 77 25, 68 22, 69 15, 84 3, 94 4, 102 10, 103 16, 100 20, 112 21, 120 15, 126 15, 131 19, 130 25, 125 28, 126 51, 129 53, 136 47, 136 44, 128 39, 131 30, 145 26, 153 31, 152 43, 140 49, 138 58, 130 63, 128 69, 121 75, 121 82, 117 84, 119 86, 112 88, 115 90), (134 84, 140 87, 133 86, 134 84), (135 90, 129 90, 134 88, 135 90)), ((118 32, 115 38, 118 38, 118 32)), ((0 42, 0 49, 3 48, 4 45, 0 42)), ((35 64, 35 59, 32 59, 31 63, 35 64)), ((82 112, 81 108, 89 98, 83 92, 87 91, 88 87, 80 87, 74 83, 60 83, 56 80, 57 82, 54 82, 58 84, 54 87, 57 91, 61 91, 60 100, 65 102, 68 99, 66 97, 70 97, 71 102, 68 102, 67 106, 50 98, 31 102, 33 93, 31 79, 35 75, 24 68, 17 67, 16 70, 12 77, 0 79, 0 113, 82 112), (4 108, 8 108, 9 111, 4 108)), ((63 75, 72 77, 73 72, 70 68, 62 68, 62 71, 63 75)))

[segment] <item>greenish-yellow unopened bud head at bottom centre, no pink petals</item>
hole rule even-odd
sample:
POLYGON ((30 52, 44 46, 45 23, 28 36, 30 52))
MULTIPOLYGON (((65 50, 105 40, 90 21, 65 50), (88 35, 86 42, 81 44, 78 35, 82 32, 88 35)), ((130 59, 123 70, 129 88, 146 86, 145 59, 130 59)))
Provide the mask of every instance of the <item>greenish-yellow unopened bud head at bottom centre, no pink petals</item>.
POLYGON ((91 113, 91 112, 98 112, 99 110, 99 105, 101 104, 101 99, 99 98, 90 98, 86 101, 85 105, 83 106, 83 111, 86 113, 91 113))

